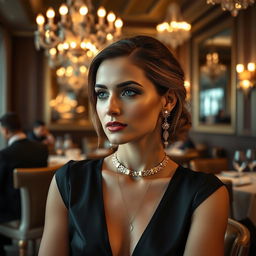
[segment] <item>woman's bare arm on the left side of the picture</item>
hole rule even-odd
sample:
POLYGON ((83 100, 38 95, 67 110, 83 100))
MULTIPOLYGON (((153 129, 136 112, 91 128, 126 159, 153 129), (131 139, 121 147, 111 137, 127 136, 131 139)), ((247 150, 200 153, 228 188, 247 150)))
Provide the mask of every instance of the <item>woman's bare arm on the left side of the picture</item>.
POLYGON ((39 256, 68 256, 67 213, 67 208, 60 196, 54 176, 49 188, 46 203, 45 226, 39 256))

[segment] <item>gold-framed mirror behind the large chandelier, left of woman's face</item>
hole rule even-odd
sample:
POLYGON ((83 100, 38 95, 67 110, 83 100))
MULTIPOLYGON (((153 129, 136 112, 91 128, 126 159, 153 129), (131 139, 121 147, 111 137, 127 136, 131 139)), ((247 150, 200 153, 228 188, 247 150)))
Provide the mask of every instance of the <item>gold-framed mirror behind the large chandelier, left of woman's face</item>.
POLYGON ((75 90, 68 83, 60 84, 56 70, 45 61, 45 120, 54 130, 93 130, 90 121, 87 90, 75 90))

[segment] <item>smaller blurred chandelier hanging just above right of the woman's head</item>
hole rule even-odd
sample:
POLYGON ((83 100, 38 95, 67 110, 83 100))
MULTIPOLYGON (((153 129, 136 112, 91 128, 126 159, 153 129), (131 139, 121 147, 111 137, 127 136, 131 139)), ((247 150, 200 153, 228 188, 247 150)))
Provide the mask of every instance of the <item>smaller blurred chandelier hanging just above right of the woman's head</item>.
POLYGON ((191 25, 182 21, 180 7, 177 3, 171 3, 168 6, 165 21, 156 27, 158 39, 171 45, 173 49, 190 37, 190 29, 191 25))

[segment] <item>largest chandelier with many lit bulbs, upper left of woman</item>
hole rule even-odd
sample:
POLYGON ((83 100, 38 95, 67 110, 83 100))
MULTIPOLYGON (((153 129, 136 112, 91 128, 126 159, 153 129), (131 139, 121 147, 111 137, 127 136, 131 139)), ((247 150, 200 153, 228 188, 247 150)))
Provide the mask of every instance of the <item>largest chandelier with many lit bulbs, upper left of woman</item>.
POLYGON ((123 22, 103 7, 95 17, 91 0, 67 0, 59 14, 57 24, 51 7, 46 12, 47 21, 42 14, 37 16, 35 45, 45 49, 50 67, 57 68, 58 82, 77 90, 86 83, 92 58, 120 37, 123 22))

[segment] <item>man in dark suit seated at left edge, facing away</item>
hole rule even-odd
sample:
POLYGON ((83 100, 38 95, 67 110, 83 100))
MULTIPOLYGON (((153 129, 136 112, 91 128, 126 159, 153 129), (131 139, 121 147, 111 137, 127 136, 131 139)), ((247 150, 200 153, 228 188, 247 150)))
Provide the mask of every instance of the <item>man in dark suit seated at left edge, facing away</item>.
POLYGON ((0 117, 0 133, 8 140, 8 146, 0 150, 0 223, 3 223, 20 218, 20 194, 13 187, 13 170, 47 166, 48 149, 27 139, 15 113, 0 117))

